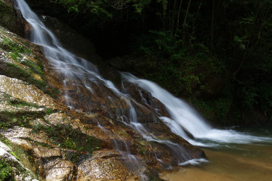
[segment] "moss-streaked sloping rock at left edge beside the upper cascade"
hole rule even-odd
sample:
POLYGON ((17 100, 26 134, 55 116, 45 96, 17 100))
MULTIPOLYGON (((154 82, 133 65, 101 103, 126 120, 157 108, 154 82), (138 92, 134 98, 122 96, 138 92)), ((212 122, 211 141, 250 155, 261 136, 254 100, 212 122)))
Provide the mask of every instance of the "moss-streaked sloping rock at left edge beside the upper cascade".
POLYGON ((58 78, 52 78, 56 73, 53 73, 39 46, 3 27, 0 29, 5 32, 0 34, 0 74, 23 80, 25 84, 32 84, 51 97, 58 97, 62 84, 58 78))

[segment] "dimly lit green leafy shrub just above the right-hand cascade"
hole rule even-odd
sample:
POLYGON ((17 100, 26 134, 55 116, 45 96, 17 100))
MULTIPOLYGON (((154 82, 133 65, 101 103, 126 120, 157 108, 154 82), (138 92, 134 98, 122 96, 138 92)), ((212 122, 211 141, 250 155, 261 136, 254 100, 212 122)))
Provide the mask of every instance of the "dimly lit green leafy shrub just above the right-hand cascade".
POLYGON ((201 80, 205 75, 220 73, 224 67, 218 58, 209 56, 210 53, 204 45, 198 44, 188 49, 170 31, 150 33, 150 39, 142 36, 143 39, 139 40, 145 46, 140 49, 146 54, 149 65, 157 71, 147 74, 146 77, 158 82, 176 96, 182 96, 185 91, 191 95, 192 89, 197 85, 203 89, 204 82, 201 80), (196 50, 197 53, 192 53, 196 50))

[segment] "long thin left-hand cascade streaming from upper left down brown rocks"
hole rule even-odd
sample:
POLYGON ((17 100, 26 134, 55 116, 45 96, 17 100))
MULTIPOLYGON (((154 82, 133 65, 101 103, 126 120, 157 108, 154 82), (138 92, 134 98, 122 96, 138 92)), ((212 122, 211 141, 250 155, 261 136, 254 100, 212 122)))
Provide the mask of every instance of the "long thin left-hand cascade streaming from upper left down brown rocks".
MULTIPOLYGON (((172 154, 176 155, 178 163, 183 163, 192 159, 192 157, 186 152, 182 145, 173 143, 169 140, 158 140, 154 135, 148 133, 144 125, 138 123, 138 116, 132 105, 132 102, 136 105, 138 104, 137 102, 135 102, 128 95, 121 93, 111 81, 103 79, 92 63, 85 59, 76 57, 74 54, 65 50, 55 35, 52 34, 51 31, 46 28, 45 25, 40 21, 37 15, 30 10, 25 1, 17 0, 17 3, 17 8, 22 12, 23 17, 33 27, 31 41, 35 44, 41 45, 44 54, 49 59, 55 70, 64 75, 63 82, 65 86, 83 83, 84 86, 87 87, 88 90, 92 93, 91 82, 103 84, 104 86, 111 89, 113 94, 117 95, 119 98, 124 100, 127 105, 129 105, 129 115, 116 115, 116 117, 122 118, 121 121, 124 124, 138 131, 146 140, 156 141, 160 144, 168 146, 172 151, 172 154), (127 124, 125 121, 128 121, 129 124, 127 124)), ((64 98, 66 100, 66 104, 73 109, 74 105, 72 104, 72 98, 70 98, 67 93, 64 95, 64 98)), ((110 97, 108 99, 110 99, 110 97)), ((101 129, 104 132, 106 131, 103 128, 101 129)), ((134 157, 134 155, 130 154, 128 148, 126 150, 119 150, 119 148, 116 147, 116 150, 122 153, 124 157, 128 157, 129 159, 134 157)))

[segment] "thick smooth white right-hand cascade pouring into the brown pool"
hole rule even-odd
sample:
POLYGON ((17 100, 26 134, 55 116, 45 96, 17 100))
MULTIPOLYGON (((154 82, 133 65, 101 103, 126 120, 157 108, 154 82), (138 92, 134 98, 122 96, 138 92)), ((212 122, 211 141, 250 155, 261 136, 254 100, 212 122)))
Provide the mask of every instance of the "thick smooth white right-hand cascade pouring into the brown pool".
MULTIPOLYGON (((191 106, 174 97, 156 83, 137 78, 130 73, 122 73, 122 76, 124 80, 137 84, 150 92, 154 98, 160 100, 171 116, 171 118, 160 117, 161 120, 169 126, 172 132, 180 135, 193 145, 217 147, 225 143, 249 144, 272 142, 272 138, 270 137, 258 137, 234 130, 214 129, 191 106), (188 137, 184 130, 192 134, 195 139, 188 137)), ((147 104, 146 101, 144 103, 147 104)))

